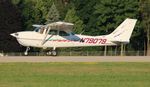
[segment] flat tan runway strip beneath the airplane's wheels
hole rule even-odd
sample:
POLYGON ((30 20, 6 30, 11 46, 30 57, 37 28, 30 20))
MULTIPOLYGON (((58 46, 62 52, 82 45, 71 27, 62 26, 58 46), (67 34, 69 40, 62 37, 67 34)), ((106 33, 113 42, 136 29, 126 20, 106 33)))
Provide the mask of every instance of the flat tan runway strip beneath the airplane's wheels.
POLYGON ((150 56, 6 56, 0 63, 7 62, 150 62, 150 56))

